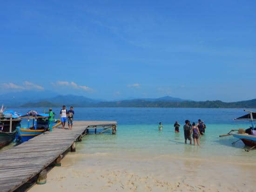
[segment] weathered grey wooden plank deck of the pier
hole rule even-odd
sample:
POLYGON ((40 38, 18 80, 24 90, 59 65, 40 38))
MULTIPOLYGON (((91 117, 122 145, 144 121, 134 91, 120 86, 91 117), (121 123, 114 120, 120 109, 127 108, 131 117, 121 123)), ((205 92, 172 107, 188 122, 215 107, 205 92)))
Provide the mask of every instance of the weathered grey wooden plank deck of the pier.
POLYGON ((116 126, 116 121, 74 121, 72 130, 45 132, 19 146, 0 152, 0 192, 12 192, 52 164, 94 126, 116 126))

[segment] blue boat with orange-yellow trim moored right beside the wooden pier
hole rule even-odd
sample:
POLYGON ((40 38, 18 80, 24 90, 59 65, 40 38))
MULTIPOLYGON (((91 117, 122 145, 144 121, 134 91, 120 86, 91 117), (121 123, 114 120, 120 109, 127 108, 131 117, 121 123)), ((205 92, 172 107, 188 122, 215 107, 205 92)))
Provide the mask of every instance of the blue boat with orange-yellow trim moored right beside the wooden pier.
MULTIPOLYGON (((48 129, 49 114, 37 113, 36 111, 32 110, 27 112, 26 115, 21 116, 20 118, 27 119, 27 127, 25 128, 17 127, 21 142, 28 141, 29 139, 37 135, 40 135, 41 133, 47 131, 48 129), (32 120, 33 122, 32 126, 30 126, 30 120, 32 120)), ((55 121, 53 125, 54 125, 53 128, 55 126, 58 126, 59 125, 58 121, 55 121)))

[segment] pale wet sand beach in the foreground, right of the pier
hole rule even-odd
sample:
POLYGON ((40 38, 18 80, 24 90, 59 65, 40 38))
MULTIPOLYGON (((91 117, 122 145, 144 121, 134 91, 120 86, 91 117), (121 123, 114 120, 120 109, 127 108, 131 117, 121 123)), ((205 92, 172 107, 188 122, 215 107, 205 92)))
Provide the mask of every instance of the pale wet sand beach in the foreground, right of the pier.
POLYGON ((254 192, 256 165, 242 158, 69 152, 29 192, 254 192))

